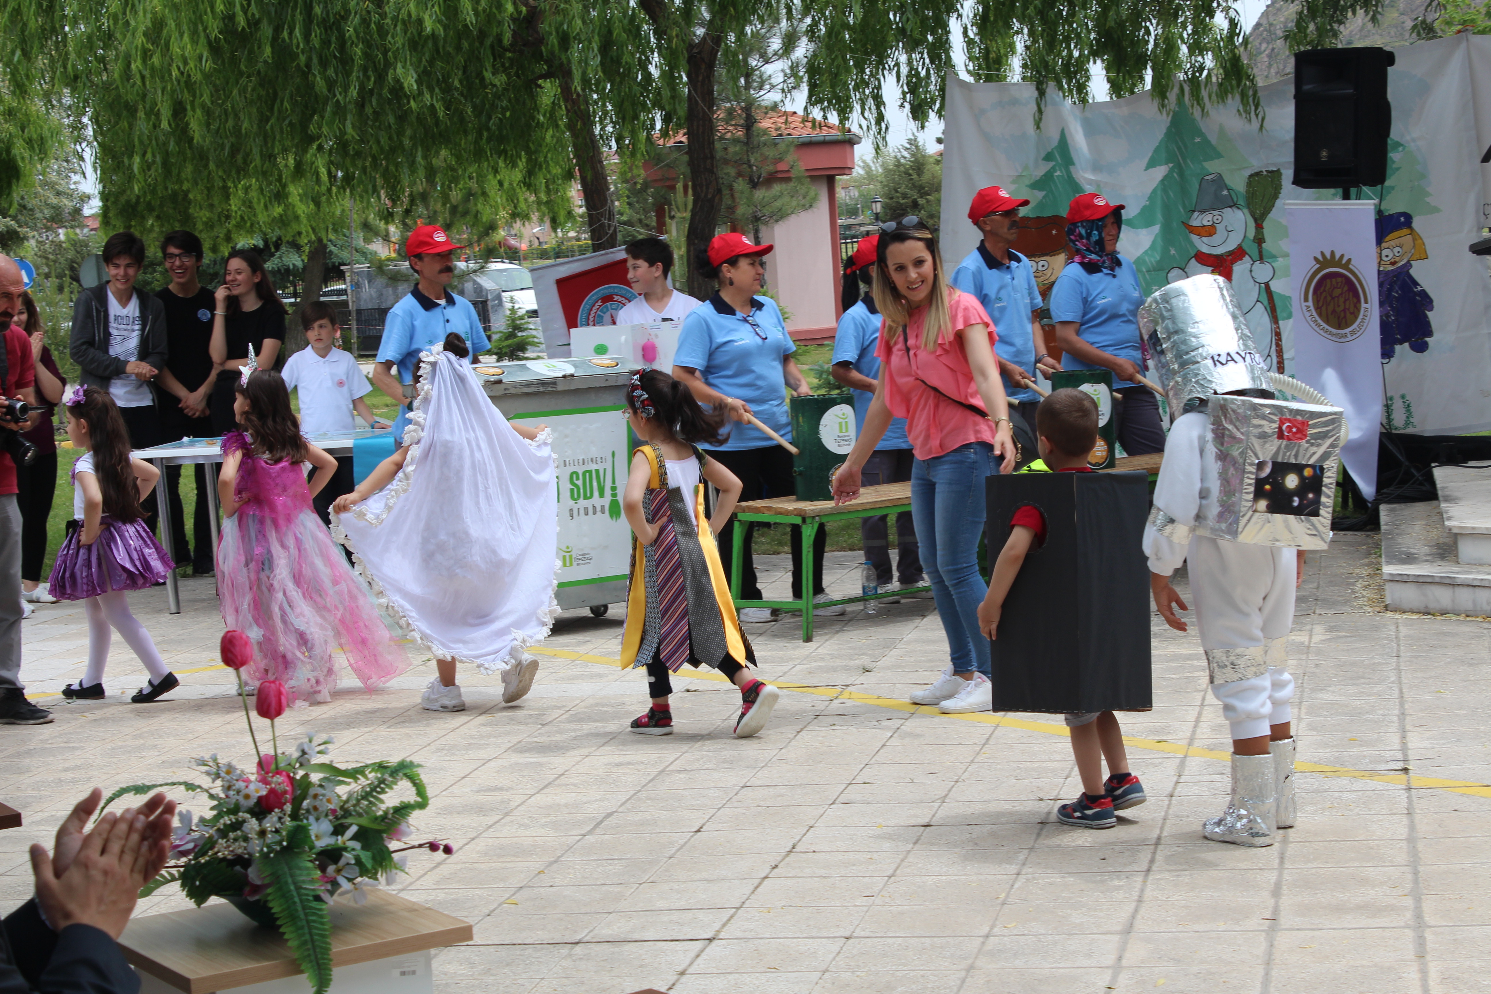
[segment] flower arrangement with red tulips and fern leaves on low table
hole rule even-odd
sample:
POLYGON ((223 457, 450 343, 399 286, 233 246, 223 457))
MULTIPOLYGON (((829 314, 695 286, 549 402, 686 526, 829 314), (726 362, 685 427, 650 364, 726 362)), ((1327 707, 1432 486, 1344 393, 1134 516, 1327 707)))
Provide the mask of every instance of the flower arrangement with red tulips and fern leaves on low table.
MULTIPOLYGON (((294 750, 279 751, 274 720, 285 714, 288 691, 277 680, 259 684, 255 709, 270 723, 273 753, 261 753, 249 717, 243 675, 253 660, 253 647, 243 632, 225 632, 222 662, 239 677, 243 715, 249 723, 253 769, 218 759, 216 754, 194 760, 209 785, 194 781, 136 784, 122 787, 104 806, 125 794, 148 794, 163 787, 182 787, 210 800, 207 817, 194 818, 182 811, 168 864, 140 896, 167 884, 180 884, 182 893, 201 906, 209 897, 222 897, 255 922, 277 927, 306 972, 316 994, 331 987, 331 900, 349 893, 356 903, 367 900, 367 888, 380 878, 406 869, 410 849, 429 849, 450 855, 450 845, 438 841, 401 845, 410 835, 409 818, 429 806, 429 794, 410 760, 379 760, 362 766, 334 766, 322 757, 331 751, 331 738, 307 736, 294 750), (413 797, 389 803, 385 794, 407 784, 413 797)), ((101 809, 100 809, 101 814, 101 809)))

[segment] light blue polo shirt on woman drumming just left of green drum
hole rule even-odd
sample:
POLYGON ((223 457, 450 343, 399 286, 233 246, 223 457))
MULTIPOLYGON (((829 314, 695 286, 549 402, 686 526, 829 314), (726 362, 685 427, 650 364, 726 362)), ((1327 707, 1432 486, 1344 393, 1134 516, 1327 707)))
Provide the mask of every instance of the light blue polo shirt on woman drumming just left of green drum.
MULTIPOLYGON (((701 380, 725 396, 746 401, 762 425, 792 441, 787 379, 781 362, 798 346, 787 334, 777 301, 751 297, 750 307, 756 328, 719 294, 695 307, 683 319, 672 362, 696 370, 701 380)), ((751 425, 731 422, 728 428, 729 438, 714 449, 738 452, 777 444, 751 425)))

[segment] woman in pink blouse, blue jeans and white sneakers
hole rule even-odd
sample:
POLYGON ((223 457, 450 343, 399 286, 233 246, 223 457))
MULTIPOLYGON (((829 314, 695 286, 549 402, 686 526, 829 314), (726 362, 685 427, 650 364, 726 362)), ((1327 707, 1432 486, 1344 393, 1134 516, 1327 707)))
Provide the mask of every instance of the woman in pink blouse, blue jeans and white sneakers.
POLYGON ((989 592, 978 575, 984 478, 1015 462, 993 322, 978 300, 948 285, 936 240, 917 218, 883 227, 874 289, 883 319, 880 382, 833 478, 833 499, 859 496, 860 468, 890 419, 905 417, 915 455, 911 516, 951 656, 942 677, 911 700, 947 714, 989 711, 989 639, 978 629, 989 592))

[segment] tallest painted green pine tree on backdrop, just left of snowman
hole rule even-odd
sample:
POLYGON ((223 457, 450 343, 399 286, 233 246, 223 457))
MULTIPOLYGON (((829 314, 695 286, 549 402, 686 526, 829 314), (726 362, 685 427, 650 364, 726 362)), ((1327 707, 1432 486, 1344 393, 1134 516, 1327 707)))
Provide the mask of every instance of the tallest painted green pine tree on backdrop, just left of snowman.
POLYGON ((1191 109, 1184 100, 1176 101, 1164 134, 1144 164, 1147 170, 1167 167, 1164 176, 1150 191, 1144 207, 1124 221, 1133 228, 1159 228, 1150 247, 1135 259, 1145 294, 1164 286, 1170 268, 1185 265, 1196 255, 1196 246, 1181 225, 1190 221, 1202 176, 1217 171, 1209 164, 1221 158, 1221 151, 1202 131, 1191 109))

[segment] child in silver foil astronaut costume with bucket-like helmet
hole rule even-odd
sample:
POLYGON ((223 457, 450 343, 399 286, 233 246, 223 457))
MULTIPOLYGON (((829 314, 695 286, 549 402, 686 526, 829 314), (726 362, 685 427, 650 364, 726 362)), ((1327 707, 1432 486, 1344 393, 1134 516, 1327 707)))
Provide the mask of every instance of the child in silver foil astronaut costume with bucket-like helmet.
POLYGON ((1144 531, 1154 602, 1187 630, 1170 574, 1188 563, 1212 694, 1232 726, 1232 800, 1205 836, 1272 845, 1276 829, 1294 824, 1294 587, 1305 550, 1330 541, 1345 419, 1327 402, 1275 399, 1275 386, 1325 398, 1269 374, 1217 276, 1160 289, 1139 320, 1179 411, 1144 531))

